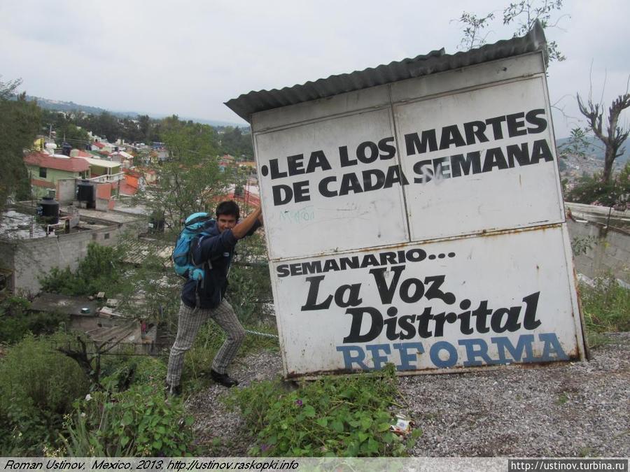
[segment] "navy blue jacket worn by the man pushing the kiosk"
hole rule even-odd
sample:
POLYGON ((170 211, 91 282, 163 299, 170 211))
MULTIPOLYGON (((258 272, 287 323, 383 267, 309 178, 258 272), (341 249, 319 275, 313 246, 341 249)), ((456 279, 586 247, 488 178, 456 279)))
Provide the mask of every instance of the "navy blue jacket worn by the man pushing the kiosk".
MULTIPOLYGON (((251 236, 262 224, 258 220, 245 236, 251 236)), ((238 242, 231 229, 226 229, 219 233, 216 221, 211 220, 204 229, 209 236, 204 236, 201 243, 192 241, 193 262, 204 264, 203 285, 197 287, 196 280, 187 280, 181 290, 181 300, 186 306, 195 308, 197 306, 197 295, 199 296, 199 308, 216 308, 228 288, 228 271, 234 256, 234 248, 238 242)))

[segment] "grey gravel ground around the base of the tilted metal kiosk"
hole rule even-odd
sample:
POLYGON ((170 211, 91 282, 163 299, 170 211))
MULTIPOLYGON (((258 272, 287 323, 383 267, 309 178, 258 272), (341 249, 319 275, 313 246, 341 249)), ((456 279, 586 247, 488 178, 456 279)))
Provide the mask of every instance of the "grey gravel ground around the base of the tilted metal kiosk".
MULTIPOLYGON (((423 434, 414 457, 629 457, 630 333, 609 334, 591 362, 399 378, 401 413, 423 434)), ((238 388, 281 373, 280 356, 240 359, 238 388)), ((251 438, 210 385, 186 404, 207 455, 244 457, 251 438)))

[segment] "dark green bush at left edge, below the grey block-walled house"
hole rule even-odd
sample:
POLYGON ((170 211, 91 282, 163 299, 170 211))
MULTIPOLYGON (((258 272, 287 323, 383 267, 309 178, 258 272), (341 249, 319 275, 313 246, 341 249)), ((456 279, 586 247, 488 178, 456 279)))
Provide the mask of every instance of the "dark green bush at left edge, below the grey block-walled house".
POLYGON ((10 296, 0 303, 0 342, 17 343, 25 334, 52 334, 68 317, 61 313, 29 313, 29 301, 10 296))

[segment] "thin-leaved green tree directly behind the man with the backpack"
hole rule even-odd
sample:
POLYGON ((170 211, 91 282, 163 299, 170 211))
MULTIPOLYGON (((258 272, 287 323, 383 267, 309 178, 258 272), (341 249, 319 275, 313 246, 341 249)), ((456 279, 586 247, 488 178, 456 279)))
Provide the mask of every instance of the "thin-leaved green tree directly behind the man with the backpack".
MULTIPOLYGON (((148 120, 146 120, 148 122, 148 120)), ((207 124, 184 122, 179 117, 160 120, 153 131, 158 130, 161 141, 166 145, 168 159, 150 167, 158 173, 157 185, 147 186, 146 193, 139 198, 151 209, 155 217, 165 220, 164 240, 175 240, 181 230, 181 223, 191 213, 206 210, 214 213, 218 201, 225 199, 228 185, 238 176, 221 173, 218 168, 219 149, 216 131, 207 124)), ((246 214, 241 207, 241 214, 246 214)), ((126 250, 134 248, 135 238, 125 241, 126 250)), ((265 244, 260 235, 246 238, 239 243, 239 251, 232 266, 230 294, 234 294, 237 315, 244 322, 256 318, 260 320, 265 304, 270 299, 269 271, 266 264, 252 263, 265 254, 265 244)), ((165 267, 156 252, 146 257, 140 267, 127 271, 127 281, 122 286, 130 293, 121 294, 123 303, 134 303, 133 292, 143 294, 142 306, 130 310, 133 313, 146 313, 160 322, 160 329, 174 334, 177 328, 176 313, 179 307, 181 278, 175 276, 171 267, 165 267)))

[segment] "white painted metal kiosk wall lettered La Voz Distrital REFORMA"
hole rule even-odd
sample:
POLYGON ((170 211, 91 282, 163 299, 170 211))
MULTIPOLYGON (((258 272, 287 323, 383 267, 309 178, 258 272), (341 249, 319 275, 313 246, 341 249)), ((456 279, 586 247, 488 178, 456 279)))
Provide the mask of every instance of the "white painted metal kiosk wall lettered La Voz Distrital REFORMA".
POLYGON ((286 376, 584 358, 540 52, 252 127, 286 376))

